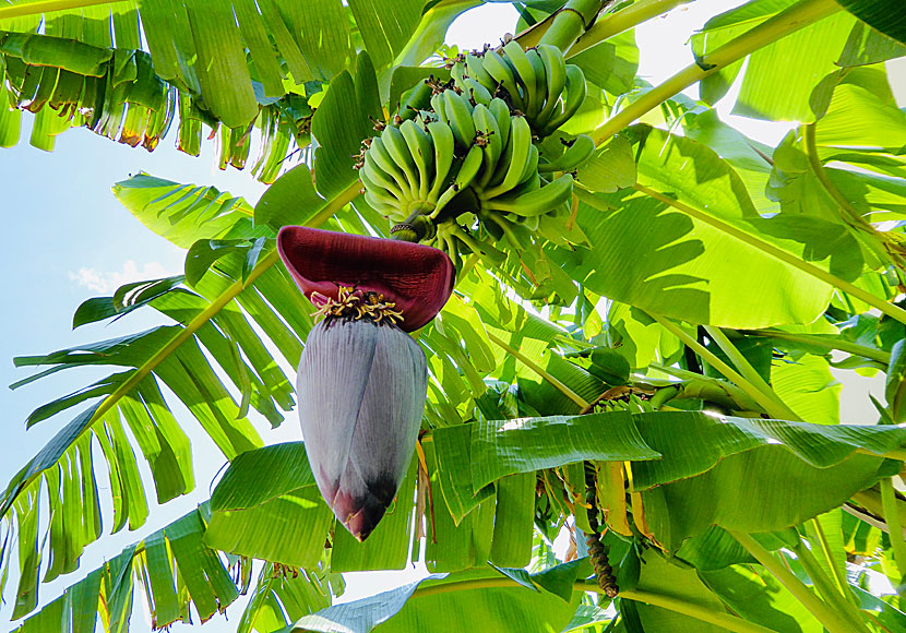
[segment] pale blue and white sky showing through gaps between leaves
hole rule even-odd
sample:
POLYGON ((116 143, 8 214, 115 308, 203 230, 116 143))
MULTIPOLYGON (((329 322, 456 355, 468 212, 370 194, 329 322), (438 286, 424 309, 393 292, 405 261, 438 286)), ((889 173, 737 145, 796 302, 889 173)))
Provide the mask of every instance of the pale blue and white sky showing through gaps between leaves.
MULTIPOLYGON (((727 0, 699 0, 693 4, 671 11, 666 17, 656 19, 636 31, 641 49, 640 74, 657 84, 691 63, 692 53, 687 38, 701 27, 707 16, 739 2, 727 0)), ((485 41, 496 43, 503 33, 514 32, 515 11, 509 4, 491 3, 469 11, 457 20, 448 34, 448 41, 461 48, 479 48, 485 41)), ((694 88, 690 96, 696 96, 694 88)), ((722 108, 726 110, 726 108, 722 108)), ((724 111, 726 117, 726 111, 724 111)), ((26 119, 23 136, 27 139, 31 124, 26 119)), ((771 124, 738 117, 729 118, 746 133, 759 140, 776 144, 788 126, 771 124)), ((45 153, 20 143, 11 150, 0 150, 0 186, 3 191, 4 224, 8 227, 3 247, 9 256, 3 292, 3 310, 0 311, 0 384, 8 385, 28 375, 27 370, 13 368, 12 358, 22 355, 43 354, 80 343, 95 342, 144 330, 160 321, 151 311, 139 311, 112 325, 95 324, 71 330, 72 314, 85 299, 98 295, 111 295, 122 283, 179 274, 183 251, 147 230, 134 219, 114 198, 110 188, 118 181, 139 171, 175 180, 177 182, 213 184, 235 195, 242 195, 254 203, 265 187, 246 171, 220 171, 214 165, 213 142, 203 144, 199 158, 187 156, 174 147, 175 134, 170 134, 153 153, 108 141, 75 129, 60 135, 52 153, 45 153)), ((88 384, 104 373, 61 372, 22 387, 15 392, 0 387, 0 410, 3 411, 3 439, 0 443, 0 488, 34 455, 69 419, 58 416, 46 420, 28 432, 24 419, 37 406, 60 395, 88 384)), ((847 385, 851 391, 849 409, 853 415, 866 415, 868 406, 866 389, 878 392, 877 380, 847 385)), ((881 392, 883 389, 881 387, 881 392)), ((81 409, 73 409, 81 410, 81 409)), ((868 414, 874 414, 869 409, 868 414)), ((196 425, 184 425, 193 440, 196 457, 205 453, 210 441, 201 433, 192 433, 196 425)), ((277 432, 267 425, 259 430, 269 443, 299 439, 295 414, 277 432)), ((148 523, 138 533, 122 530, 105 536, 88 548, 79 572, 63 576, 41 587, 41 604, 58 596, 67 586, 95 569, 104 559, 116 556, 127 545, 140 540, 188 512, 210 495, 208 483, 223 465, 222 458, 201 458, 196 470, 198 487, 194 493, 167 504, 160 512, 152 506, 148 523)), ((140 467, 146 475, 147 466, 140 467)), ((146 479, 148 480, 148 479, 146 479)), ((102 491, 102 497, 104 492, 102 491)), ((109 513, 106 515, 109 517, 109 513)), ((105 528, 109 518, 105 519, 105 528)), ((403 574, 371 575, 367 580, 353 576, 345 599, 385 590, 391 585, 408 582, 421 570, 403 574)), ((13 587, 7 588, 7 597, 13 587)), ((230 624, 205 630, 234 630, 241 607, 229 609, 230 624)), ((0 607, 0 629, 8 628, 11 605, 0 607)), ((133 630, 143 629, 143 616, 133 614, 133 630)), ((174 628, 174 631, 182 628, 174 628)), ((186 629, 188 630, 188 629, 186 629)))

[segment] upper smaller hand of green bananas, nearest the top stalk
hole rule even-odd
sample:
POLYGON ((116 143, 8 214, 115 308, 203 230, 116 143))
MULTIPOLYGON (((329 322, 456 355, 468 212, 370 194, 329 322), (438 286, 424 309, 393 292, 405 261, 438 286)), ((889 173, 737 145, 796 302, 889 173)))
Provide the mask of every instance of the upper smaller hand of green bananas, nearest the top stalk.
POLYGON ((511 40, 501 52, 470 52, 454 62, 451 72, 456 86, 476 103, 502 96, 525 115, 538 138, 565 123, 585 100, 582 69, 568 64, 559 48, 546 44, 523 50, 511 40))

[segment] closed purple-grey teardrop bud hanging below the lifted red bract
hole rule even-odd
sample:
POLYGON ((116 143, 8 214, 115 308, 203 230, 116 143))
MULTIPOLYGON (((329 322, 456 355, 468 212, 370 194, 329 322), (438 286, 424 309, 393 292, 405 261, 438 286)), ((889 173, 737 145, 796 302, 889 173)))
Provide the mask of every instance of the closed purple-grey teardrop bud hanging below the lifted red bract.
POLYGON ((308 336, 296 390, 318 488, 365 540, 412 461, 428 390, 425 353, 396 325, 327 318, 308 336))

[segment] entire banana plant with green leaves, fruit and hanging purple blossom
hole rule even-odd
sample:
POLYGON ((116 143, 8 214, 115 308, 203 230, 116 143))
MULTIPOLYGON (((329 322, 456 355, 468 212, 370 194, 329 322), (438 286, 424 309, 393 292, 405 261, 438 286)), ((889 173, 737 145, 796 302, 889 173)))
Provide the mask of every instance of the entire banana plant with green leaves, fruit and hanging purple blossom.
MULTIPOLYGON (((0 145, 23 110, 44 150, 86 127, 153 151, 175 128, 180 150, 207 135, 222 168, 273 182, 254 205, 146 174, 114 186, 186 249, 184 274, 73 319, 159 325, 15 359, 37 371, 14 389, 111 373, 26 419, 58 431, 0 494, 13 626, 126 631, 138 593, 155 629, 246 594, 237 629, 262 633, 906 630, 898 3, 742 3, 659 85, 636 76, 633 29, 683 0, 516 2, 515 37, 443 46, 478 3, 0 5, 0 145), (772 147, 722 121, 734 84, 736 114, 797 127, 772 147), (330 237, 284 241, 311 235, 330 237), (377 246, 332 260, 327 242, 377 246), (405 279, 413 253, 445 262, 445 292, 372 265, 405 279), (396 371, 418 406, 380 444, 398 449, 380 456, 393 486, 362 527, 319 451, 346 387, 395 383, 347 380, 361 355, 325 332, 397 316, 405 344, 382 354, 424 354, 427 380, 396 371), (333 365, 312 365, 325 345, 333 365), (885 373, 886 402, 842 420, 832 368, 885 373), (308 445, 260 430, 297 407, 308 445), (208 501, 143 530, 148 494, 194 489, 195 426, 229 466, 208 501), (104 518, 141 538, 39 596, 104 518), (334 604, 342 573, 415 560, 427 578, 334 604)), ((373 465, 367 447, 348 468, 373 465)))

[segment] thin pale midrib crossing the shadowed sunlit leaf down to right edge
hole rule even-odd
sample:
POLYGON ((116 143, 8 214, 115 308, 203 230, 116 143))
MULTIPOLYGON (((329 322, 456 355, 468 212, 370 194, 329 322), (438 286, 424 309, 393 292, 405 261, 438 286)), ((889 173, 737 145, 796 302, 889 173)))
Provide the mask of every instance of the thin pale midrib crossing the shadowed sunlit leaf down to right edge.
POLYGON ((889 301, 885 301, 884 299, 881 299, 880 297, 875 297, 871 292, 862 290, 861 288, 850 284, 849 282, 844 282, 839 277, 837 277, 835 275, 832 275, 827 271, 825 271, 823 268, 820 268, 819 266, 815 266, 814 264, 806 262, 806 261, 801 260, 800 258, 794 255, 792 253, 789 253, 789 252, 787 252, 783 249, 779 249, 779 248, 775 247, 774 244, 768 243, 768 242, 762 240, 761 238, 759 238, 759 237, 756 237, 756 236, 754 236, 750 232, 747 232, 747 231, 744 231, 740 228, 737 228, 737 227, 735 227, 730 224, 727 224, 724 220, 718 219, 717 217, 715 217, 713 215, 708 215, 707 213, 703 213, 703 212, 699 211, 698 208, 694 208, 694 207, 689 206, 688 204, 684 204, 684 203, 682 203, 678 200, 673 200, 672 198, 664 195, 659 191, 655 191, 654 189, 645 187, 644 184, 637 184, 636 183, 634 187, 637 191, 641 191, 645 195, 649 195, 649 196, 654 198, 655 200, 659 200, 660 202, 663 202, 665 204, 668 204, 668 205, 672 206, 673 208, 677 208, 677 210, 686 213, 690 217, 694 217, 695 219, 698 219, 700 222, 703 222, 707 225, 713 226, 714 228, 720 230, 722 232, 730 235, 730 236, 737 238, 738 240, 740 240, 740 241, 742 241, 747 244, 753 246, 756 249, 759 249, 760 251, 773 256, 774 259, 777 259, 777 260, 779 260, 782 262, 785 262, 785 263, 787 263, 787 264, 789 264, 789 265, 791 265, 796 268, 799 268, 803 273, 807 273, 807 274, 811 275, 812 277, 821 279, 822 282, 824 282, 824 283, 826 283, 831 286, 834 286, 835 288, 837 288, 839 290, 843 290, 844 292, 846 292, 848 295, 851 295, 851 296, 856 297, 857 299, 859 299, 861 301, 865 301, 869 306, 871 306, 873 308, 878 308, 881 312, 883 312, 884 314, 886 314, 891 319, 895 319, 896 321, 899 321, 901 323, 906 324, 906 310, 903 310, 902 308, 899 308, 897 306, 894 306, 893 303, 891 303, 889 301))

